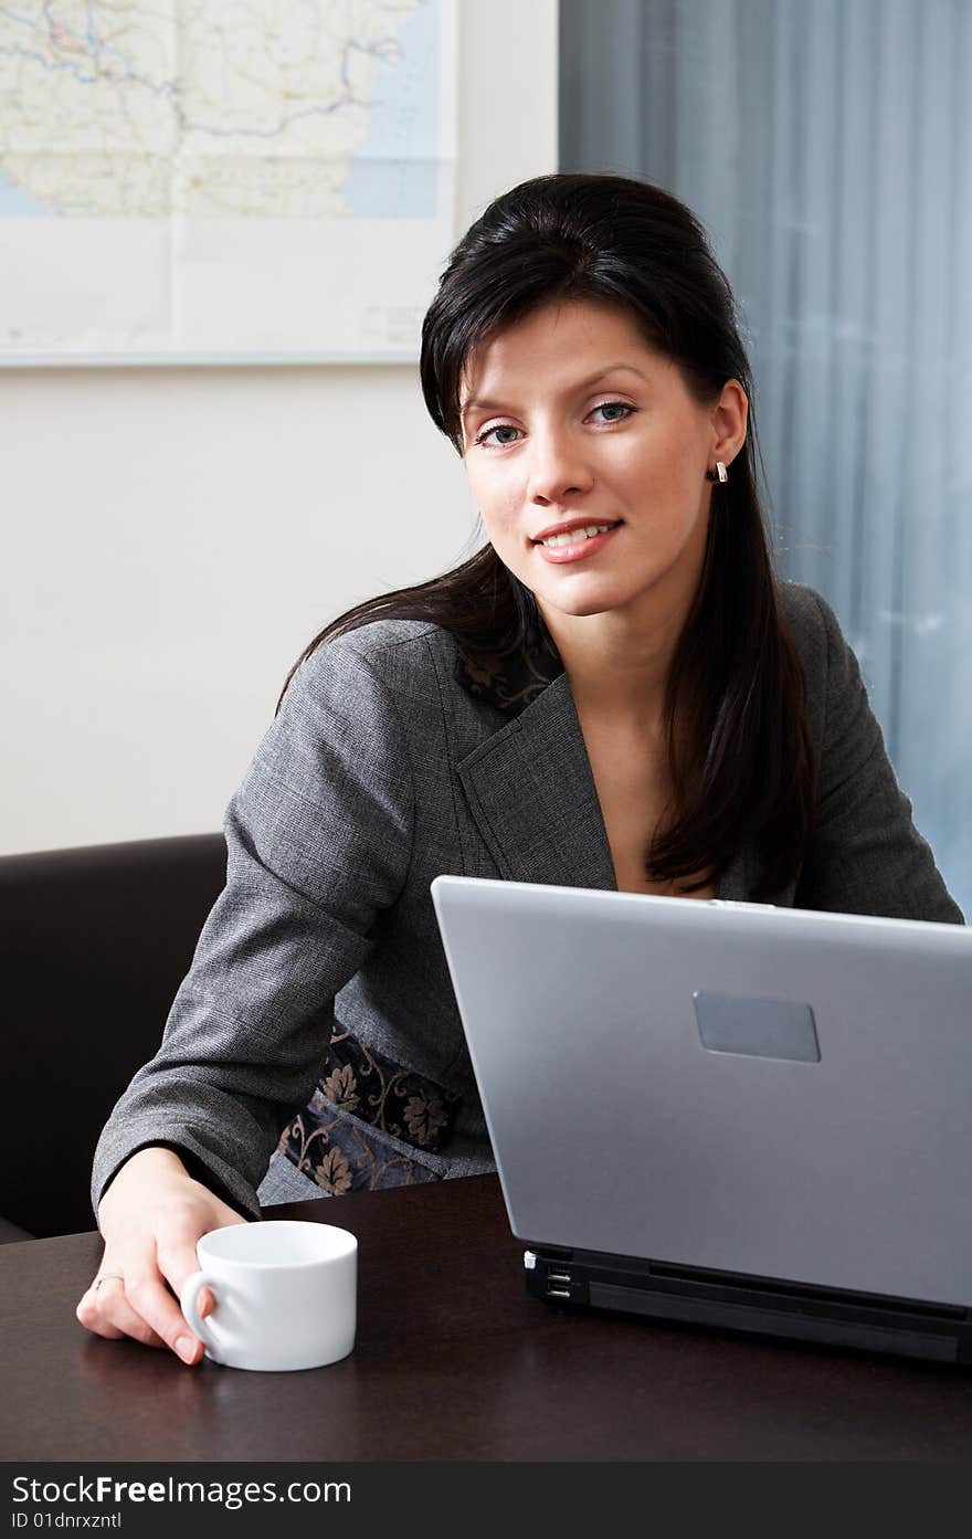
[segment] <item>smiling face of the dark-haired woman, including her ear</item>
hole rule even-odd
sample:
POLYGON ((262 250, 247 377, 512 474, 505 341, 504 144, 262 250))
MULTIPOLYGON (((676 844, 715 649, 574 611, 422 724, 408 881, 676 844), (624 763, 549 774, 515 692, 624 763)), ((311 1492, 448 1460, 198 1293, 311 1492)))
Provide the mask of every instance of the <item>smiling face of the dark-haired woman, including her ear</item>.
POLYGON ((557 303, 474 351, 461 411, 486 532, 544 614, 687 609, 706 469, 729 463, 746 431, 735 380, 700 405, 626 311, 557 303))

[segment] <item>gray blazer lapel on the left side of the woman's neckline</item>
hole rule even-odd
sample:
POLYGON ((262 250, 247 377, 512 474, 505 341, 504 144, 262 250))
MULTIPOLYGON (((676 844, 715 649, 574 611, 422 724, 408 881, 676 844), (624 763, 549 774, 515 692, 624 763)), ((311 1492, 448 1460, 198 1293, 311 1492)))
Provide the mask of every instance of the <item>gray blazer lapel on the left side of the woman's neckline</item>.
POLYGON ((588 749, 561 673, 458 765, 469 810, 508 882, 617 886, 588 749))

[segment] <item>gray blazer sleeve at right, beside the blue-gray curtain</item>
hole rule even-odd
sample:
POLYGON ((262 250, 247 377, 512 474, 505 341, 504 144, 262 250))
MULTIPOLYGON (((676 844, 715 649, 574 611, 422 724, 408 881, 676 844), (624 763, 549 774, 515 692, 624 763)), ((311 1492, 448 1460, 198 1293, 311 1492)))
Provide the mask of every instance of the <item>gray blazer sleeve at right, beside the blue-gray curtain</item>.
POLYGON ((834 611, 814 594, 826 642, 824 725, 817 822, 797 905, 892 919, 964 923, 927 842, 912 820, 852 648, 834 611))

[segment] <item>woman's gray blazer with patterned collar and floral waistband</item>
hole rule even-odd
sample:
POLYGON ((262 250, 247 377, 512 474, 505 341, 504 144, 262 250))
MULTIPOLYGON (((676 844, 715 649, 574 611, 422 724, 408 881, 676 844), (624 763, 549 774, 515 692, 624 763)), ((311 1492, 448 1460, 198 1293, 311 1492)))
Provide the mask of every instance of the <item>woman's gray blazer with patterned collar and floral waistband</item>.
MULTIPOLYGON (((777 902, 961 923, 832 611, 789 583, 783 603, 818 811, 777 902)), ((429 883, 615 886, 563 671, 501 691, 449 633, 404 620, 318 648, 229 805, 226 843, 226 888, 161 1047, 102 1134, 95 1207, 148 1143, 252 1216, 278 1140, 326 1191, 494 1170, 429 883)), ((754 880, 740 850, 718 894, 746 899, 754 880)))

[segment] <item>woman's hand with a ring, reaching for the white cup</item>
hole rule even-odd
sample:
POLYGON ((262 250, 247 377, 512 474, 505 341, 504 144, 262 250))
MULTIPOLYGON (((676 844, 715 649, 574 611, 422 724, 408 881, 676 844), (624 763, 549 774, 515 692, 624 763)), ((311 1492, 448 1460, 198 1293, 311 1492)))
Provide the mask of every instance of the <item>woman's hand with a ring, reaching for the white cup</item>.
MULTIPOLYGON (((195 1242, 209 1230, 245 1222, 192 1180, 172 1150, 138 1150, 98 1205, 105 1254, 75 1310, 78 1320, 97 1336, 134 1336, 146 1347, 171 1347, 183 1362, 198 1362, 203 1344, 178 1307, 186 1277, 198 1271, 195 1242)), ((200 1314, 209 1314, 212 1305, 209 1288, 203 1288, 200 1314)))

